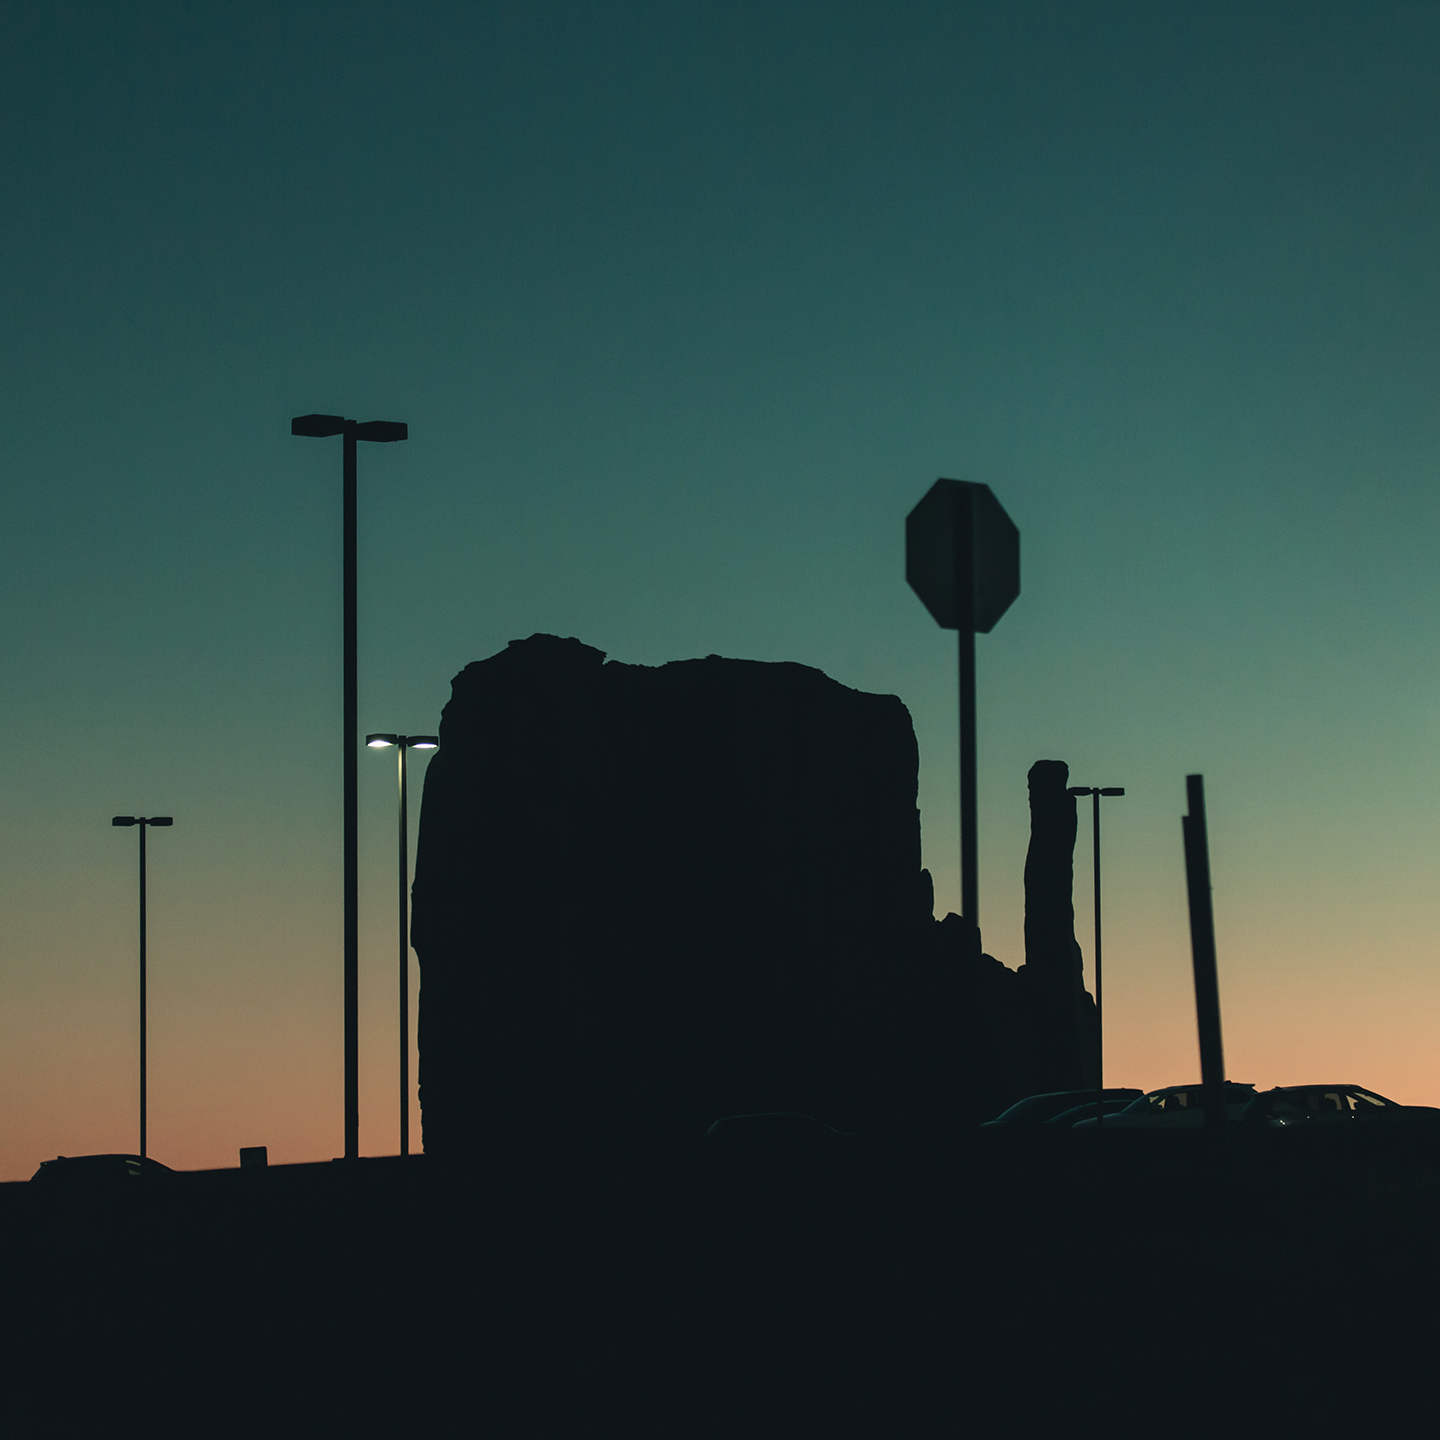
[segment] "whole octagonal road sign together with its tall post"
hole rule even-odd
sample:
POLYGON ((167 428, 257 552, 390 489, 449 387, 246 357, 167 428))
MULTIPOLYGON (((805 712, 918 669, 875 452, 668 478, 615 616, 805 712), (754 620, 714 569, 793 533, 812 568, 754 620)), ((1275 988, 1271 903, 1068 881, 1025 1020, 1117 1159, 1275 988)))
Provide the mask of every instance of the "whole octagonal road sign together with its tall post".
POLYGON ((1020 531, 989 485, 937 480, 904 523, 910 589, 959 634, 960 919, 979 935, 975 819, 975 632, 988 635, 1020 595, 1020 531))

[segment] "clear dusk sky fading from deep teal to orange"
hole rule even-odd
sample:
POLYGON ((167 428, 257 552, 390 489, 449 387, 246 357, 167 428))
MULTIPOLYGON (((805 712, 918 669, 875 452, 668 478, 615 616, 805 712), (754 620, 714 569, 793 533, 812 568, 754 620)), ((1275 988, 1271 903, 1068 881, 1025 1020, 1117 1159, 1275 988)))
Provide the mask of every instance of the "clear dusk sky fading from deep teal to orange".
MULTIPOLYGON (((1022 537, 978 639, 986 950, 1024 959, 1030 765, 1123 785, 1106 1076, 1194 1079, 1201 772, 1231 1079, 1440 1104, 1437 59, 1405 3, 0 0, 0 1179, 138 1143, 114 814, 176 821, 150 1153, 343 1149, 312 410, 410 428, 360 454, 363 733, 534 632, 815 665, 913 716, 939 914, 955 636, 904 516, 984 481, 1022 537)), ((1089 978, 1084 825, 1076 880, 1089 978)))

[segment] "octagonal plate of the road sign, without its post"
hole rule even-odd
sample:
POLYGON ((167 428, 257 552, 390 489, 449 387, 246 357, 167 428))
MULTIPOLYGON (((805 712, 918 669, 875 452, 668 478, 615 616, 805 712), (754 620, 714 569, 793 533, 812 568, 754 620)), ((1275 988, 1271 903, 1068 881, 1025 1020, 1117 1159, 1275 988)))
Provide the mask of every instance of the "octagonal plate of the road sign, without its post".
POLYGON ((937 480, 906 516, 904 577, 943 629, 959 629, 965 590, 989 634, 1020 595, 1020 531, 989 485, 937 480))

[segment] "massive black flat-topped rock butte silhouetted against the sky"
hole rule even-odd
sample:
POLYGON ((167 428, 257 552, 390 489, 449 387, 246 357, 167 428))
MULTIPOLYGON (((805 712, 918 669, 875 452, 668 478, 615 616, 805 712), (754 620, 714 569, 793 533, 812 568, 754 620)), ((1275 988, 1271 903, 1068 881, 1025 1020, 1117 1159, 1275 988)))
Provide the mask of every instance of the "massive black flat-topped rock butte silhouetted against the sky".
POLYGON ((415 870, 426 1152, 953 1126, 1068 1074, 1073 966, 935 920, 917 776, 900 700, 805 665, 552 635, 468 665, 415 870))

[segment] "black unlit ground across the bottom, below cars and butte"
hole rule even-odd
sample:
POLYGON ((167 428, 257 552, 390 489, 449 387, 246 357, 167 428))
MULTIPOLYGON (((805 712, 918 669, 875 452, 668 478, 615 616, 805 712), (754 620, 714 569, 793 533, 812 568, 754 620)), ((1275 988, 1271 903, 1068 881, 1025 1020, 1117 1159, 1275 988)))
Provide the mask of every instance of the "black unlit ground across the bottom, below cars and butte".
POLYGON ((1440 1152, 1342 1139, 0 1187, 4 1428, 1434 1434, 1440 1152))

